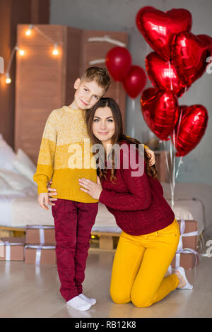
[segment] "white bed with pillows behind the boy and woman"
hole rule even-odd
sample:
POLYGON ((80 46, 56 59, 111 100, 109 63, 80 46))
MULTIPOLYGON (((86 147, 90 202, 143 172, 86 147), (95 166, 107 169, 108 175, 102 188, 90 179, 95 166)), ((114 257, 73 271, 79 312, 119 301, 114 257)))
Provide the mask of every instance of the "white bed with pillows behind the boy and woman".
MULTIPOLYGON (((25 229, 27 225, 54 225, 52 211, 40 208, 37 186, 33 182, 35 165, 23 150, 14 153, 0 135, 0 227, 25 229), (4 158, 2 153, 4 152, 4 158)), ((164 196, 170 203, 170 184, 162 182, 164 196)), ((177 183, 175 206, 177 219, 196 220, 199 235, 212 223, 212 186, 207 184, 177 183)), ((114 216, 99 203, 93 234, 119 235, 114 216)))

